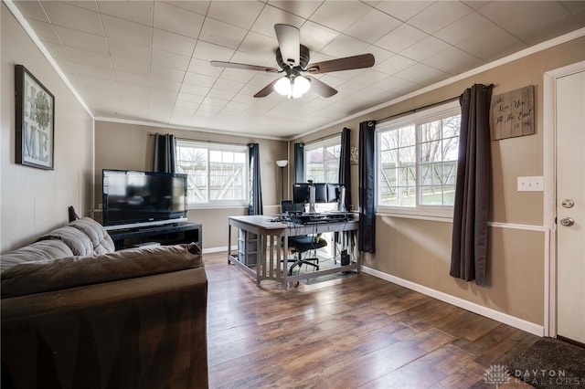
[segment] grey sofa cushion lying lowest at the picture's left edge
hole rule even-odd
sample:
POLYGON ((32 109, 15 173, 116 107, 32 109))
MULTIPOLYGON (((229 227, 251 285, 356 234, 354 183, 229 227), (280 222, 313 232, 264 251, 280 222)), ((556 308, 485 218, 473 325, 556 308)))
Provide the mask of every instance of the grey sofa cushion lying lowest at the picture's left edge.
POLYGON ((49 259, 71 257, 73 252, 61 240, 41 240, 18 248, 0 257, 0 271, 12 268, 23 262, 46 261, 49 259))

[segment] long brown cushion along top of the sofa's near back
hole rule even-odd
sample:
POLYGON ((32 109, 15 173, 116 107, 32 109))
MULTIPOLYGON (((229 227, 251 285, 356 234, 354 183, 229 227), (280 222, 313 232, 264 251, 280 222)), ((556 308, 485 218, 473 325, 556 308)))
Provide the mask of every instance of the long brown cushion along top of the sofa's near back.
POLYGON ((1 274, 2 298, 202 268, 196 244, 133 248, 90 257, 24 262, 1 274))

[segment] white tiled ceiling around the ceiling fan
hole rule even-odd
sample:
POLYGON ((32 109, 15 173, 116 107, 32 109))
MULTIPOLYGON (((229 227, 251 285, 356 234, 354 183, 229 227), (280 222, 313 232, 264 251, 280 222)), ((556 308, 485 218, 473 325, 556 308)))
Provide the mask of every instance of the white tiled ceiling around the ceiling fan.
POLYGON ((96 119, 288 138, 585 26, 585 1, 14 1, 96 119), (316 75, 338 93, 252 96, 279 68, 274 25, 311 62, 372 53, 373 68, 316 75))

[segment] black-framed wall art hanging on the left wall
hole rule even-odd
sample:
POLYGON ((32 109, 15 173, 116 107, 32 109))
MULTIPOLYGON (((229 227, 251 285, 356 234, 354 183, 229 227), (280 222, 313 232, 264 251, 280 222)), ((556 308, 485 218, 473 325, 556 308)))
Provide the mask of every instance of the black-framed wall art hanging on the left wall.
POLYGON ((53 170, 55 96, 22 65, 15 66, 16 163, 53 170))

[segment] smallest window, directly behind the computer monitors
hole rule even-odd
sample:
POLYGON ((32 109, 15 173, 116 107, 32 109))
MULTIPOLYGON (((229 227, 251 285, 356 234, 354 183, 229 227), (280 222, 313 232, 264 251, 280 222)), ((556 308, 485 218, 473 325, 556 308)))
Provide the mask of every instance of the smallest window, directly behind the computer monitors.
POLYGON ((315 183, 339 182, 341 140, 338 137, 304 146, 304 177, 315 183))

